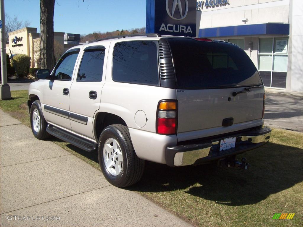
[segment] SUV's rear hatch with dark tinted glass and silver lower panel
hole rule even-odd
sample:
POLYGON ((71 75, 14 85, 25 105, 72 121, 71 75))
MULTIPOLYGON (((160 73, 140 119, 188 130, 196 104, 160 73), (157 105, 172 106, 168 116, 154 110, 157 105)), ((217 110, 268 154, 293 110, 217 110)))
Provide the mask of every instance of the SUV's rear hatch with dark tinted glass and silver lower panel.
POLYGON ((263 83, 241 48, 193 38, 169 38, 168 43, 176 75, 178 133, 224 127, 230 123, 226 119, 232 119, 233 126, 225 126, 224 133, 261 122, 263 83))

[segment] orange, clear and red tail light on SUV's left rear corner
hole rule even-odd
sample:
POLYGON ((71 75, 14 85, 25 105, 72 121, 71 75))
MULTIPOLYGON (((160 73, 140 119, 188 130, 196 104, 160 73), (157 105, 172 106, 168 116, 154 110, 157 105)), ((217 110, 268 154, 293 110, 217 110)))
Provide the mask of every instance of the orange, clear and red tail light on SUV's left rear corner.
POLYGON ((162 135, 177 133, 178 102, 177 100, 161 100, 158 103, 156 132, 162 135))

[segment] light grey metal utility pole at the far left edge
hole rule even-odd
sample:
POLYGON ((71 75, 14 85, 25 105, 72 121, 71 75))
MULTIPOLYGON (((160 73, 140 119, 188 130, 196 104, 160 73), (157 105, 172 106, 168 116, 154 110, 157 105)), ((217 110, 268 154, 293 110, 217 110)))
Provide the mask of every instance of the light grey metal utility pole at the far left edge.
POLYGON ((0 49, 1 49, 1 85, 0 85, 0 100, 11 99, 11 89, 7 84, 7 69, 6 69, 6 37, 5 37, 5 14, 4 0, 0 0, 0 49))

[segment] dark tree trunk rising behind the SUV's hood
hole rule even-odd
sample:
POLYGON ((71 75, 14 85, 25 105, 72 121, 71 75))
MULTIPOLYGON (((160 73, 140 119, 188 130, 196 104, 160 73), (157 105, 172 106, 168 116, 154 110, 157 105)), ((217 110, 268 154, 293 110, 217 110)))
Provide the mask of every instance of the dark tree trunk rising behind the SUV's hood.
POLYGON ((40 68, 52 71, 54 56, 55 0, 40 0, 40 68))

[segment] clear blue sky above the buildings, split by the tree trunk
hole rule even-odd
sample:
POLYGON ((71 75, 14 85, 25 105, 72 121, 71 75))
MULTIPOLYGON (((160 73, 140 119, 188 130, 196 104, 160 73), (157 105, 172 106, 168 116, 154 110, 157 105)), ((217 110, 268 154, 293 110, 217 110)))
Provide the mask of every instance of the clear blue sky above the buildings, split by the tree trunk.
MULTIPOLYGON (((89 34, 145 27, 145 0, 56 0, 54 31, 89 34)), ((40 0, 5 0, 5 14, 40 31, 40 0)))

